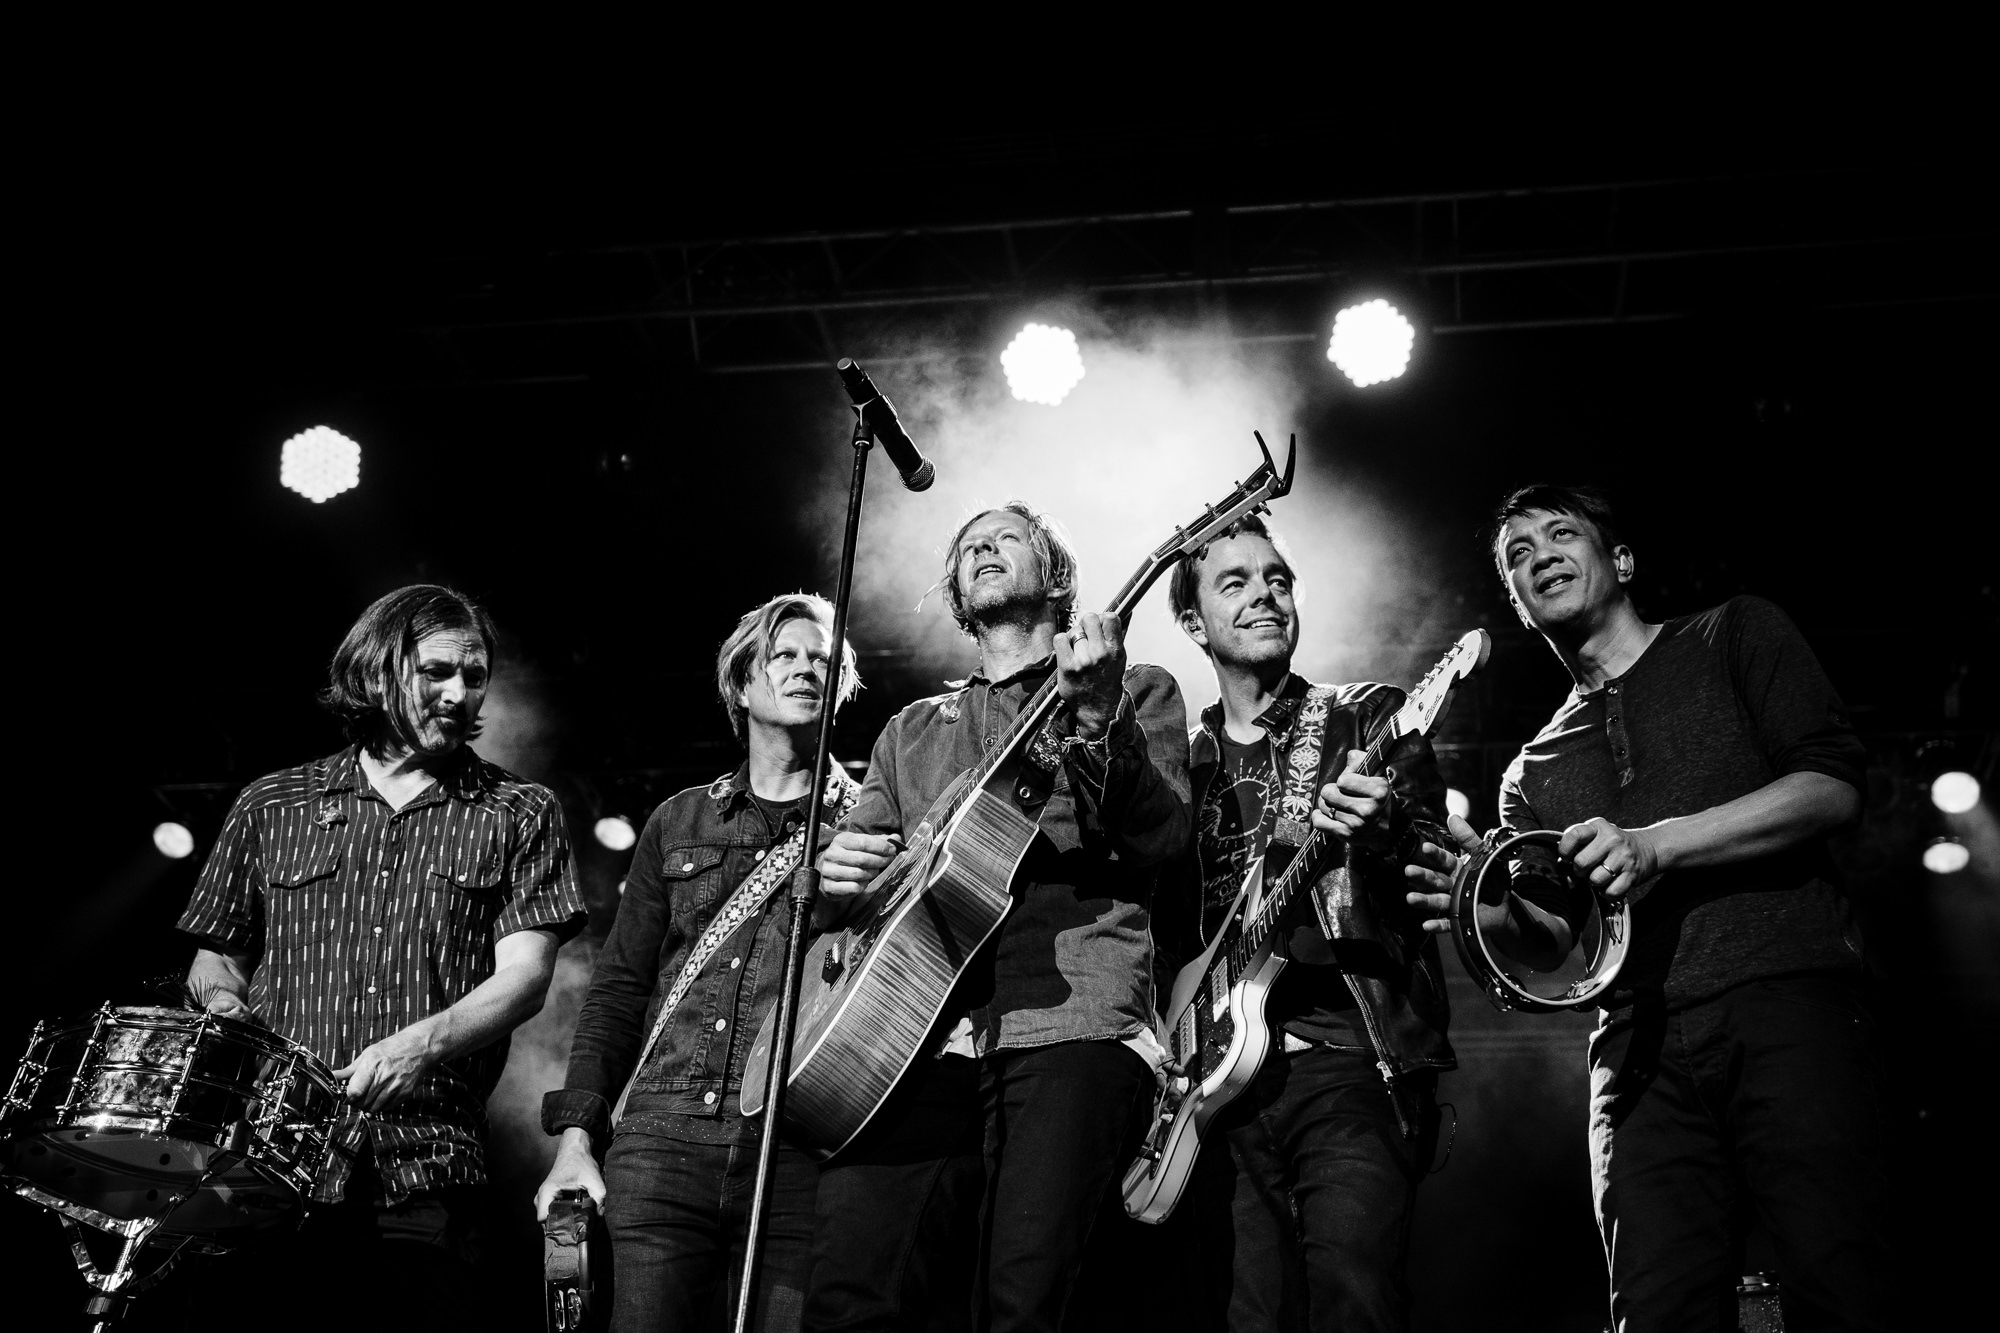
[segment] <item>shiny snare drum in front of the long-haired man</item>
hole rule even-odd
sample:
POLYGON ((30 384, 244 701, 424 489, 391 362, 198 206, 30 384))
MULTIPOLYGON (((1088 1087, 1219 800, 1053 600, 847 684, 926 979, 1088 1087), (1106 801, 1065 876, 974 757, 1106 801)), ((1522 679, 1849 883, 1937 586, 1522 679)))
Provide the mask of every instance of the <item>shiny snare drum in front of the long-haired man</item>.
POLYGON ((36 1025, 0 1103, 0 1175, 90 1225, 154 1217, 188 1195, 160 1233, 224 1249, 302 1215, 340 1107, 326 1065, 276 1033, 104 1005, 36 1025))

